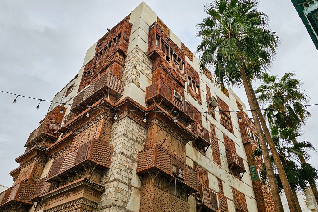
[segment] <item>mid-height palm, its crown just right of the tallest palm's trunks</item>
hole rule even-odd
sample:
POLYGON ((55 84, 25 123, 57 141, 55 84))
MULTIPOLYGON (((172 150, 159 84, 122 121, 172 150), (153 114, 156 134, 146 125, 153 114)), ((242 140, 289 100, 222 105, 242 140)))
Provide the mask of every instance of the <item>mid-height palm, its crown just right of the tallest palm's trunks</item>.
MULTIPOLYGON (((285 73, 280 79, 264 73, 261 77, 262 85, 255 89, 258 94, 260 104, 266 105, 264 117, 270 124, 276 124, 279 127, 293 127, 298 131, 307 120, 307 110, 303 104, 308 102, 304 95, 302 81, 294 79, 295 74, 285 73), (273 120, 276 117, 276 120, 273 120)), ((296 138, 293 139, 296 143, 296 138)), ((301 163, 306 164, 306 160, 300 157, 301 163)), ((310 187, 318 203, 318 190, 315 183, 310 187)))

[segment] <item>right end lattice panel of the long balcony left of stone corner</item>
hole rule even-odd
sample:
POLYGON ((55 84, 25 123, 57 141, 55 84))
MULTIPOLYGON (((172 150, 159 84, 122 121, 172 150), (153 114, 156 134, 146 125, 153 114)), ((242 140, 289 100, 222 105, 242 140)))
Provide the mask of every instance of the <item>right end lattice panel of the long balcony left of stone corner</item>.
POLYGON ((97 141, 94 142, 93 152, 91 156, 92 161, 96 161, 97 163, 109 167, 111 155, 112 147, 97 141))

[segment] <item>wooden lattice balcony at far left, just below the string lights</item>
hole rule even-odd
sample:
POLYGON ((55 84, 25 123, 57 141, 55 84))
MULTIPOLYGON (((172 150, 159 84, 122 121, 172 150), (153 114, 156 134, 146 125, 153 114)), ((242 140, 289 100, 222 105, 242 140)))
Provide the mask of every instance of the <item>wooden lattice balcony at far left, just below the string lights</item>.
POLYGON ((37 144, 38 140, 41 140, 45 137, 51 139, 59 138, 59 126, 60 124, 46 120, 38 128, 36 128, 29 136, 28 140, 25 143, 25 147, 34 146, 33 143, 37 144), (42 136, 42 138, 41 138, 42 136))

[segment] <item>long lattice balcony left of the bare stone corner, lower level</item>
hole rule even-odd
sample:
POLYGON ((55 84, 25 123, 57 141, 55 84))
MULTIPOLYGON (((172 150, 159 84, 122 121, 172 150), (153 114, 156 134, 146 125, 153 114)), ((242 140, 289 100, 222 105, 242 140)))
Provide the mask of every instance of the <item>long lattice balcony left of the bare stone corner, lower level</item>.
POLYGON ((112 152, 113 147, 92 139, 54 160, 46 181, 55 181, 59 177, 67 177, 67 174, 75 174, 75 169, 84 169, 82 164, 86 163, 90 166, 95 164, 96 168, 101 170, 108 169, 112 152))

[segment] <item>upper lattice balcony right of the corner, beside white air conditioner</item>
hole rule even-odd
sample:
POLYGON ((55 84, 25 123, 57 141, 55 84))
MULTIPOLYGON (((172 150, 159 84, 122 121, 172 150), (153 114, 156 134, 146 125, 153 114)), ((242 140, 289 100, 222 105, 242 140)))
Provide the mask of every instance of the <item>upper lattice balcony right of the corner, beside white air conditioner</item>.
POLYGON ((146 103, 147 104, 164 104, 168 108, 173 108, 173 111, 188 112, 180 113, 179 115, 188 123, 193 122, 193 106, 189 103, 177 99, 173 95, 173 90, 159 79, 156 83, 146 88, 146 103))

